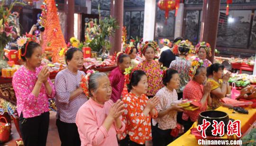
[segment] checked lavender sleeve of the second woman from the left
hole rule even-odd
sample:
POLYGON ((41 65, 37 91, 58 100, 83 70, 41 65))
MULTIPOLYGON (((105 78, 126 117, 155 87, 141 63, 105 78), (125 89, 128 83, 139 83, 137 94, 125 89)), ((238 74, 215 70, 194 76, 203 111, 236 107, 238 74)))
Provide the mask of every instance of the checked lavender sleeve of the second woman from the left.
POLYGON ((66 81, 62 74, 57 74, 55 77, 55 90, 56 90, 56 100, 60 103, 69 103, 70 92, 67 91, 66 81))

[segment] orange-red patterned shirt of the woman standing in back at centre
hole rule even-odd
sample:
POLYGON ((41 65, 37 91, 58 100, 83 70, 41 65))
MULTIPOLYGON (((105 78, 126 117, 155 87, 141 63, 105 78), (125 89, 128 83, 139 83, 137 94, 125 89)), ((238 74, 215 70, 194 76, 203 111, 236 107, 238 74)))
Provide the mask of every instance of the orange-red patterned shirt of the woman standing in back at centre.
POLYGON ((144 60, 137 65, 135 70, 143 70, 146 72, 148 83, 146 95, 153 96, 164 86, 162 83, 162 71, 160 69, 160 65, 155 60, 150 62, 144 60))

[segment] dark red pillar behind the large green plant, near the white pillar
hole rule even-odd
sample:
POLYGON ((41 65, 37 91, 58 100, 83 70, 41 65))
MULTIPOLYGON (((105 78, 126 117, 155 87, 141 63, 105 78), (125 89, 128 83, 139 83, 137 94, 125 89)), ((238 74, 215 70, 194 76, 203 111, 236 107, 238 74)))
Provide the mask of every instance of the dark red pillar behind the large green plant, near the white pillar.
POLYGON ((110 54, 121 51, 122 45, 122 27, 123 27, 124 0, 111 0, 110 15, 117 19, 119 29, 113 37, 110 37, 111 49, 110 54))

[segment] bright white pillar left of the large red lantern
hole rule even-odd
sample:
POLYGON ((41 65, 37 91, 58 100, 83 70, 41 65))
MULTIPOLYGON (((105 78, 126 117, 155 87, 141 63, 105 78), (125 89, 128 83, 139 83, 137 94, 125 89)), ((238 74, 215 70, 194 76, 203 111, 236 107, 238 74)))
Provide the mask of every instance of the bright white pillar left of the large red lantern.
POLYGON ((145 0, 143 42, 154 40, 156 0, 145 0))

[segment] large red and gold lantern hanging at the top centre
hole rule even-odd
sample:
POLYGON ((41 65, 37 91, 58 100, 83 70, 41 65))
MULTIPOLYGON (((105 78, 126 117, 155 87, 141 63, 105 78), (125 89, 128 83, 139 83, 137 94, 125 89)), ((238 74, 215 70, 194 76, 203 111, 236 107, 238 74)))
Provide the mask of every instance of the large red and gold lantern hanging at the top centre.
POLYGON ((165 11, 165 19, 169 17, 169 11, 175 9, 175 16, 180 7, 180 0, 159 0, 157 3, 159 9, 165 11))

